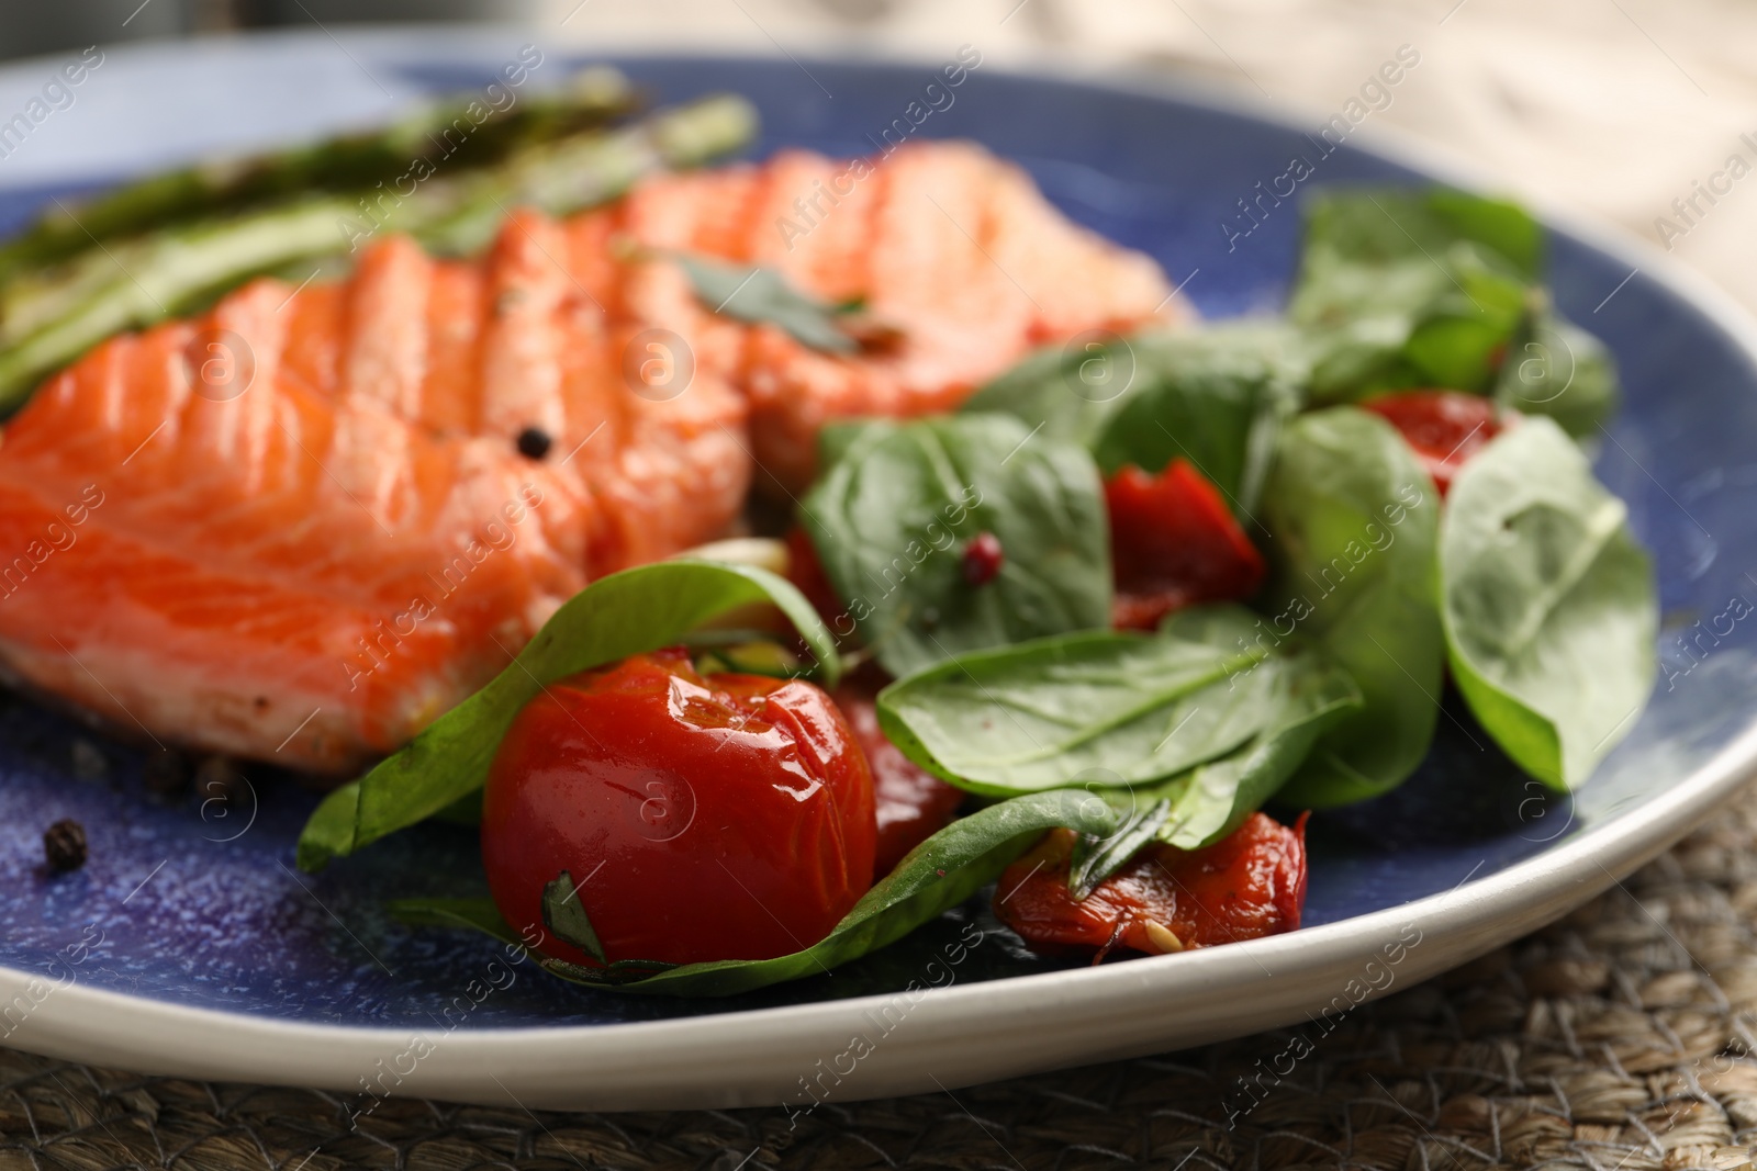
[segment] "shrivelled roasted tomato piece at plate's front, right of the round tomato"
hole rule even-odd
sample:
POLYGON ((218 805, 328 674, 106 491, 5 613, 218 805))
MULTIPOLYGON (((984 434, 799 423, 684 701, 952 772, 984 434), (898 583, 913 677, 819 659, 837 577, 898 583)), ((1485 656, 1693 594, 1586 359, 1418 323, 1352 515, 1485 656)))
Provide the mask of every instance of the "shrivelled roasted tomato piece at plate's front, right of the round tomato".
POLYGON ((1149 955, 1295 930, 1305 906, 1305 815, 1291 829, 1263 813, 1204 850, 1154 843, 1086 899, 1068 892, 1074 830, 1058 829, 1007 867, 994 915, 1033 952, 1114 948, 1149 955))

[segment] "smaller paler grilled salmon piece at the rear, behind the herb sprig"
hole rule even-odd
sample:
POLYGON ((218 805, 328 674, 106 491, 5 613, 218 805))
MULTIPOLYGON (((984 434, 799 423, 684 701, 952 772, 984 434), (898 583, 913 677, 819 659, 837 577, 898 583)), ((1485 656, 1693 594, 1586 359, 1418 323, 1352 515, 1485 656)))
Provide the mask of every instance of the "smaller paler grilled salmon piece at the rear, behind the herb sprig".
POLYGON ((784 151, 761 167, 657 176, 599 214, 652 248, 778 269, 898 332, 854 360, 750 332, 736 383, 752 451, 789 492, 810 483, 824 423, 952 411, 1035 346, 1188 316, 1158 263, 1070 223, 972 142, 854 162, 784 151))

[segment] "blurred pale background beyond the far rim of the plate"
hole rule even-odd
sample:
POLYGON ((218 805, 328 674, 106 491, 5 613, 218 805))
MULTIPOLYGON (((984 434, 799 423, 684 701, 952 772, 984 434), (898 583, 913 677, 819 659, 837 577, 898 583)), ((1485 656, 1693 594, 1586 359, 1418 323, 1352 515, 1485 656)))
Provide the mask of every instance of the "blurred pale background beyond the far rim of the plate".
POLYGON ((515 21, 541 44, 1147 67, 1321 125, 1399 46, 1421 63, 1372 128, 1508 191, 1609 219, 1757 309, 1750 0, 61 0, 0 7, 0 53, 360 21, 515 21))

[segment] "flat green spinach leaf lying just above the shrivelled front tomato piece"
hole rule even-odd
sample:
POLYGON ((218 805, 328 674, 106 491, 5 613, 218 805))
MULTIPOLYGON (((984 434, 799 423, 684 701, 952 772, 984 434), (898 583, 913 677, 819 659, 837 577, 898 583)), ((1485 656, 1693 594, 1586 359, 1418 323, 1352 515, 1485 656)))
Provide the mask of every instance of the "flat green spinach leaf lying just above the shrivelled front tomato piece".
POLYGON ((1242 820, 1358 702, 1312 648, 1239 606, 1209 606, 1153 636, 961 655, 880 692, 878 723, 910 760, 986 795, 1177 778, 1151 797, 1172 801, 1165 834, 1182 844, 1242 820))

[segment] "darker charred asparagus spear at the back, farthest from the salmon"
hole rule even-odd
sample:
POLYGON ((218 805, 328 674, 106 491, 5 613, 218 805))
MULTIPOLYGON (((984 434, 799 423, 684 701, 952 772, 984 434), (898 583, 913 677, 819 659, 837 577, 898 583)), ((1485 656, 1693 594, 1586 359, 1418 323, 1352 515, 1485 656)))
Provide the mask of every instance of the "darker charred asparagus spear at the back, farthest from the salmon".
POLYGON ((425 156, 485 165, 531 142, 597 126, 627 112, 634 91, 613 68, 587 68, 552 91, 513 95, 495 111, 483 95, 427 104, 383 130, 343 135, 251 158, 214 160, 130 183, 97 198, 54 205, 23 235, 0 244, 0 283, 93 249, 216 212, 313 191, 351 191, 404 174, 425 156), (473 109, 474 107, 474 109, 473 109), (476 118, 471 118, 474 114, 476 118), (480 121, 478 121, 480 119, 480 121))

